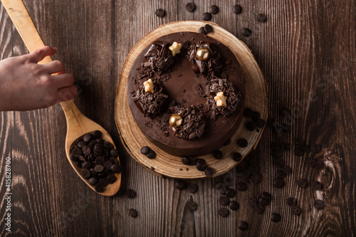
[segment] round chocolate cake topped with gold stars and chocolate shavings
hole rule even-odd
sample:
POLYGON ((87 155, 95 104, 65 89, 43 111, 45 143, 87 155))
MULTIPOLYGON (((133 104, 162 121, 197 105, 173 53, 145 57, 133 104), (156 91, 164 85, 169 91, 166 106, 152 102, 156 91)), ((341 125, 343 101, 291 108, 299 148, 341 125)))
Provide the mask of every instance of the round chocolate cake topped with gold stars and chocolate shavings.
POLYGON ((137 57, 127 96, 148 139, 171 154, 197 156, 219 149, 239 127, 244 76, 234 54, 214 38, 171 33, 137 57))

